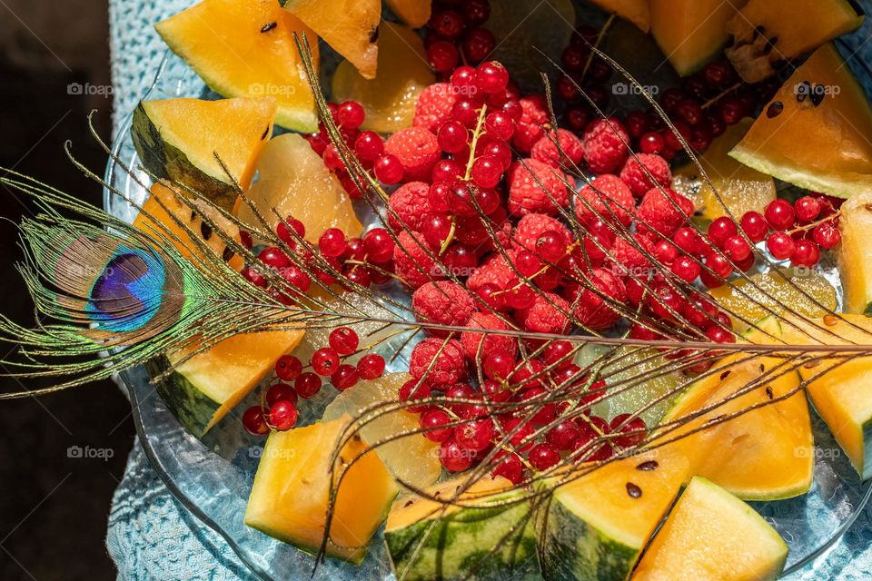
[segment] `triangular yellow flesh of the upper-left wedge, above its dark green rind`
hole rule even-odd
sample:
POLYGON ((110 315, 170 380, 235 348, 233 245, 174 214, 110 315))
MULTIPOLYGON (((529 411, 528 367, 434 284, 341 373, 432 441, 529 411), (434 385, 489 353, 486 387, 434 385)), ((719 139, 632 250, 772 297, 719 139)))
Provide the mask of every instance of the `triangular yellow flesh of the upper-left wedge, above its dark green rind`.
POLYGON ((248 189, 254 162, 272 135, 275 99, 166 99, 144 101, 143 107, 164 140, 197 168, 221 182, 231 182, 229 172, 248 189))

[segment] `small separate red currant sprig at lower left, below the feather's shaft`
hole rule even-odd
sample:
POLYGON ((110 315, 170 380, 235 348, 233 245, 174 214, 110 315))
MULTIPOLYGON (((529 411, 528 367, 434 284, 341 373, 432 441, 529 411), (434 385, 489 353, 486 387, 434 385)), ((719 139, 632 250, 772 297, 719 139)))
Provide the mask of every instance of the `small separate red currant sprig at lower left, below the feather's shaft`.
POLYGON ((356 365, 343 363, 352 355, 359 355, 360 338, 349 327, 338 327, 328 337, 329 346, 312 353, 304 370, 302 361, 294 355, 283 355, 275 363, 277 381, 267 389, 261 405, 252 406, 243 413, 243 426, 254 435, 261 436, 275 429, 284 431, 297 423, 297 399, 310 399, 321 391, 322 378, 330 378, 331 385, 340 390, 352 388, 360 379, 377 379, 384 373, 384 359, 377 353, 368 353, 356 365), (293 385, 291 385, 293 382, 293 385))

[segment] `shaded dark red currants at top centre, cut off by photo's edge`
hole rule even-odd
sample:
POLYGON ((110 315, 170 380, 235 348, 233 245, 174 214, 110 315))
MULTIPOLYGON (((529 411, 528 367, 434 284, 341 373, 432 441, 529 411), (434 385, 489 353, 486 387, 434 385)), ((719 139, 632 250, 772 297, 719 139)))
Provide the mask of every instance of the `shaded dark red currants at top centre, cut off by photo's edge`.
POLYGON ((488 0, 442 0, 432 3, 424 46, 436 74, 447 77, 463 60, 481 63, 497 45, 484 25, 490 17, 488 0))

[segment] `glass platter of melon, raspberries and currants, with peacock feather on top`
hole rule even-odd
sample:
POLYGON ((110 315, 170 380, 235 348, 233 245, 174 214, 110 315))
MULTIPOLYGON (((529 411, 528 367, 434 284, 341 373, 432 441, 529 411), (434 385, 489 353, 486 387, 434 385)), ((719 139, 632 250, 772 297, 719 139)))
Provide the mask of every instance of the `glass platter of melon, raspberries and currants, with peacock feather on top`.
POLYGON ((790 576, 872 493, 863 23, 202 0, 104 210, 0 178, 54 320, 0 333, 42 391, 120 374, 263 579, 790 576))

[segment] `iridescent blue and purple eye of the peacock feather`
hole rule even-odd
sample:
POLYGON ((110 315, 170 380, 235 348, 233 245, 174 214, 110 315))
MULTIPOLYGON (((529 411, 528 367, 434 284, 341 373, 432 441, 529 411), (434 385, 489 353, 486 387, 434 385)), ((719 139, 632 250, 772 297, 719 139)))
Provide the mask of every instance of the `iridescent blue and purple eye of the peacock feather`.
POLYGON ((141 329, 160 309, 165 281, 155 253, 119 245, 94 280, 85 312, 100 330, 141 329))

